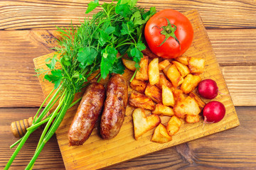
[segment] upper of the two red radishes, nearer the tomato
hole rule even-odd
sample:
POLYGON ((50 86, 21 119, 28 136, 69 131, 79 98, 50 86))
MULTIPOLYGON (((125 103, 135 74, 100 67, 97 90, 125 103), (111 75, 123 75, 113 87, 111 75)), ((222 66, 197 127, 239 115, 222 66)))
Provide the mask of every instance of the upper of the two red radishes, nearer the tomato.
POLYGON ((213 79, 204 79, 198 84, 198 94, 204 98, 213 99, 218 96, 218 86, 213 79))

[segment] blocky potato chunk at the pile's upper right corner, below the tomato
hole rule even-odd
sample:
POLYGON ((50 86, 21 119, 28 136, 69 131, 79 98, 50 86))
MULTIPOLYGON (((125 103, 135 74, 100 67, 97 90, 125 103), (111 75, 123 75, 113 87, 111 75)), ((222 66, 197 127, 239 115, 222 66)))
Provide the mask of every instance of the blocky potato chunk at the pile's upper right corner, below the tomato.
POLYGON ((205 60, 203 58, 191 57, 188 60, 188 68, 191 70, 191 73, 203 73, 205 66, 205 60))

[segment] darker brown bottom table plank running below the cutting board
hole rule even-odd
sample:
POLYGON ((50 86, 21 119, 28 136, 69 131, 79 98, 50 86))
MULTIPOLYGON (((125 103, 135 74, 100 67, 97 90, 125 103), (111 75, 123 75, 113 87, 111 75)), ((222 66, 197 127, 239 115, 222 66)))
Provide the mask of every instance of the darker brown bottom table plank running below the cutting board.
MULTIPOLYGON (((107 169, 255 169, 255 107, 236 107, 240 120, 237 128, 163 149, 107 169)), ((36 108, 0 108, 0 169, 14 152, 9 145, 16 142, 9 130, 12 121, 28 118, 36 108)), ((24 169, 31 159, 39 134, 31 135, 10 169, 24 169), (29 151, 29 152, 28 152, 29 151)), ((41 152, 35 169, 65 169, 55 136, 41 152)))

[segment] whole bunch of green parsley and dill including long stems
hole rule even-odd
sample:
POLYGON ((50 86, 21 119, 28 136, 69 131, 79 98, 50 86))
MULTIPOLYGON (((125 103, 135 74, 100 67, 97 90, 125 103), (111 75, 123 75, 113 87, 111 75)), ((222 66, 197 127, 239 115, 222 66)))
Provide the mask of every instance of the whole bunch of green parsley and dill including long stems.
POLYGON ((126 53, 136 62, 135 66, 139 69, 139 61, 143 57, 142 50, 146 48, 143 43, 143 28, 146 21, 156 13, 156 9, 150 8, 149 11, 144 11, 144 8, 139 8, 136 4, 137 0, 119 0, 117 4, 112 1, 102 5, 98 0, 91 1, 86 13, 90 13, 97 6, 100 6, 102 11, 93 14, 91 19, 85 18, 80 26, 73 26, 71 23, 68 29, 58 28, 62 36, 58 40, 60 47, 55 47, 58 54, 46 60, 47 70, 36 70, 38 75, 45 74, 44 78, 54 84, 54 89, 38 109, 33 124, 27 128, 26 134, 11 146, 12 148, 19 144, 5 169, 9 169, 29 135, 40 125, 47 123, 36 152, 26 167, 26 169, 33 168, 38 155, 58 129, 68 108, 80 101, 81 98, 73 102, 75 93, 87 85, 88 78, 92 74, 100 70, 96 75, 97 80, 100 81, 108 74, 124 73, 121 58, 126 53), (56 66, 58 62, 61 67, 56 66), (50 98, 51 95, 53 96, 50 98), (50 101, 43 108, 48 98, 50 101), (58 103, 58 106, 45 120, 42 120, 55 103, 58 103), (41 108, 43 111, 36 118, 41 108))

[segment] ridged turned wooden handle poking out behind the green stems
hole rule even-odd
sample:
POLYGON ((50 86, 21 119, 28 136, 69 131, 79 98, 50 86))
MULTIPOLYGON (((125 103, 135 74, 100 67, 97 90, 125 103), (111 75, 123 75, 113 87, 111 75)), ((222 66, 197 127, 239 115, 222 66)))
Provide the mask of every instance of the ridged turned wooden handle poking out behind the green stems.
MULTIPOLYGON (((48 112, 43 119, 45 119, 50 113, 48 112)), ((26 133, 26 128, 30 127, 33 123, 33 118, 18 120, 11 123, 11 132, 15 137, 23 137, 26 133)))

